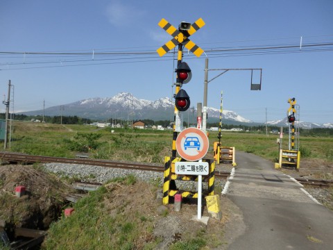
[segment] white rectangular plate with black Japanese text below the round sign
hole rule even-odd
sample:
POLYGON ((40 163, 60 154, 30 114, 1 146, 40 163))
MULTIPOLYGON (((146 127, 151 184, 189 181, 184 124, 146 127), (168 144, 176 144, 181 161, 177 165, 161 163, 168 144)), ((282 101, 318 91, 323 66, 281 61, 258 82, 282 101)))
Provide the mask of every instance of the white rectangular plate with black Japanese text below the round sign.
POLYGON ((210 165, 207 162, 177 162, 175 163, 176 174, 185 175, 208 175, 210 165))

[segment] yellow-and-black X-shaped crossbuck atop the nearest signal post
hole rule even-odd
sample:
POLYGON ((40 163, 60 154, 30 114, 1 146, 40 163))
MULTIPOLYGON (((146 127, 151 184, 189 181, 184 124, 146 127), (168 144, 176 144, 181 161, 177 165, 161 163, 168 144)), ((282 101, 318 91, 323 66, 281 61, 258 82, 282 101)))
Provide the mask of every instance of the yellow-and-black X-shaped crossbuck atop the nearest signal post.
POLYGON ((201 56, 201 54, 203 53, 203 49, 201 49, 194 42, 189 40, 189 36, 196 33, 199 28, 205 25, 203 19, 199 18, 198 20, 196 20, 196 22, 194 22, 194 24, 182 22, 178 29, 175 28, 164 18, 161 19, 158 25, 173 37, 173 39, 171 39, 169 42, 157 49, 157 53, 160 56, 164 56, 168 51, 176 47, 178 44, 183 44, 185 48, 189 49, 189 51, 194 53, 194 55, 198 57, 201 56))

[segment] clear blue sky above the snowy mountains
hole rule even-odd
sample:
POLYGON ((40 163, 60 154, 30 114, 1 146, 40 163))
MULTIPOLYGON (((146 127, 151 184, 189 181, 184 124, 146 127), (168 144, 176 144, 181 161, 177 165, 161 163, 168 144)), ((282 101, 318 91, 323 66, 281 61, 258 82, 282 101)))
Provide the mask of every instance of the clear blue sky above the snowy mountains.
MULTIPOLYGON (((250 72, 226 72, 208 84, 207 106, 219 108, 223 91, 223 109, 264 122, 265 110, 268 121, 283 119, 295 97, 300 120, 333 122, 332 13, 332 0, 1 0, 0 93, 7 95, 10 80, 15 112, 119 92, 171 97, 173 54, 153 53, 171 35, 157 24, 164 18, 178 27, 201 17, 205 26, 190 40, 205 54, 196 58, 185 49, 183 58, 193 74, 183 85, 191 106, 203 102, 207 57, 210 69, 262 68, 261 91, 250 91, 250 72), (275 49, 254 50, 267 47, 275 49)), ((217 74, 210 71, 209 79, 217 74)))

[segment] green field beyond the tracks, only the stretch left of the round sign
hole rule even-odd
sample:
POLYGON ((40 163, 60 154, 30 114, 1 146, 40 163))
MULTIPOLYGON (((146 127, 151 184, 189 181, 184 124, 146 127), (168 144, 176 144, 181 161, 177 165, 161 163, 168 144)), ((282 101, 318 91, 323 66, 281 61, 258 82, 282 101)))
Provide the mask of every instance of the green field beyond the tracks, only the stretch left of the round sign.
MULTIPOLYGON (((75 158, 84 152, 85 143, 94 144, 87 150, 91 158, 162 163, 162 152, 169 149, 170 131, 139 131, 132 129, 97 128, 85 125, 37 124, 13 122, 10 151, 32 155, 75 158), (92 138, 92 135, 96 139, 92 138), (83 136, 82 136, 83 135, 83 136), (159 136, 162 135, 162 136, 159 136), (97 145, 97 147, 95 147, 97 145), (74 147, 76 146, 76 147, 74 147)), ((89 146, 89 145, 87 145, 89 146)), ((1 147, 1 145, 0 145, 1 147)))

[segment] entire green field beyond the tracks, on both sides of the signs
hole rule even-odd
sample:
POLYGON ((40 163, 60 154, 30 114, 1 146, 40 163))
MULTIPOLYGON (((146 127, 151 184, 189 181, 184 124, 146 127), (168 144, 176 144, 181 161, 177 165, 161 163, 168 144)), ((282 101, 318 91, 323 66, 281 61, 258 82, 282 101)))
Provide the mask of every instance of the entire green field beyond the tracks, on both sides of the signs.
MULTIPOLYGON (((218 132, 210 132, 210 151, 218 132)), ((260 132, 222 131, 221 144, 262 156, 278 159, 279 135, 260 132)), ((34 122, 13 122, 9 151, 42 156, 75 158, 87 153, 90 158, 130 160, 145 163, 163 163, 164 156, 171 155, 173 132, 152 129, 97 128, 89 125, 60 125, 34 122)), ((0 145, 0 147, 3 147, 0 145)), ((282 140, 288 149, 288 135, 282 140)), ((333 162, 333 138, 331 136, 300 136, 301 158, 333 162)))

